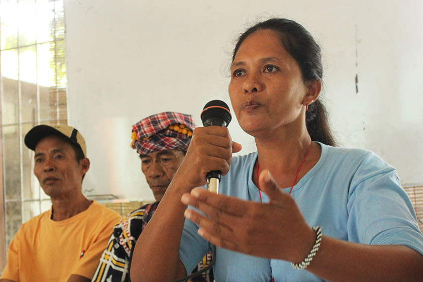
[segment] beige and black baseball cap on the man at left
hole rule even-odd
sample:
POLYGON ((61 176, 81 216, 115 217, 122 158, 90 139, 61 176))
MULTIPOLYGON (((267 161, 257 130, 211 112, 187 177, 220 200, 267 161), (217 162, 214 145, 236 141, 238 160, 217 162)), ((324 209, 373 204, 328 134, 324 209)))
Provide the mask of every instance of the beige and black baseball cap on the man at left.
POLYGON ((84 137, 75 128, 63 124, 56 125, 37 125, 28 131, 25 135, 24 143, 26 147, 35 151, 35 147, 38 142, 46 136, 59 135, 69 139, 69 141, 75 145, 78 145, 84 156, 87 157, 87 147, 85 145, 84 137))

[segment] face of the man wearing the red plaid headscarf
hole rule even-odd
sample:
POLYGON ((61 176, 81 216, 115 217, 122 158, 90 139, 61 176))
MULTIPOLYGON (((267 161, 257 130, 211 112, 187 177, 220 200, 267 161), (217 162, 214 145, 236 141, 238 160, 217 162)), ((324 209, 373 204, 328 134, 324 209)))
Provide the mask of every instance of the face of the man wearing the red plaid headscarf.
POLYGON ((139 156, 141 171, 153 191, 154 198, 160 201, 184 160, 185 154, 179 150, 165 150, 139 156))

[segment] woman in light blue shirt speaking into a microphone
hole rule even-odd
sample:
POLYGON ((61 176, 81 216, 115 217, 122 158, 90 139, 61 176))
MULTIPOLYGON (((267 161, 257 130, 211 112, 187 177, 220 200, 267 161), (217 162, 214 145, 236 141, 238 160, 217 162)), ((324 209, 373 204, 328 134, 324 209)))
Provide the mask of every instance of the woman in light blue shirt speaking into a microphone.
POLYGON ((257 151, 232 158, 241 146, 225 127, 194 130, 135 247, 132 281, 184 277, 211 244, 216 282, 421 281, 423 235, 396 170, 336 147, 312 35, 260 22, 240 36, 230 72, 232 108, 257 151), (221 171, 219 194, 196 188, 210 171, 221 171))

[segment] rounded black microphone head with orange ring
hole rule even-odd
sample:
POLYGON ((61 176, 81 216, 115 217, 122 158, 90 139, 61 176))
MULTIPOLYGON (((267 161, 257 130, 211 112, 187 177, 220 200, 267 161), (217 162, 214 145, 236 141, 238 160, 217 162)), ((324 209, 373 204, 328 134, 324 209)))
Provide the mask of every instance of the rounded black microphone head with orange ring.
POLYGON ((221 100, 211 100, 201 112, 201 121, 204 126, 218 125, 227 127, 232 120, 228 105, 221 100))

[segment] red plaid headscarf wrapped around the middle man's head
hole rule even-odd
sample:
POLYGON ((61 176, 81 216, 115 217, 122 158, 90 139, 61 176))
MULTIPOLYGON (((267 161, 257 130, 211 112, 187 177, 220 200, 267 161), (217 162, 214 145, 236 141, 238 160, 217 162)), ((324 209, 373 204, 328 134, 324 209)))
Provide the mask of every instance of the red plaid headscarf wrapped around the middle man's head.
POLYGON ((185 124, 191 131, 195 123, 191 115, 179 112, 162 112, 150 115, 132 125, 136 139, 132 142, 132 149, 138 154, 148 154, 164 150, 187 151, 191 137, 168 128, 173 124, 185 124))

